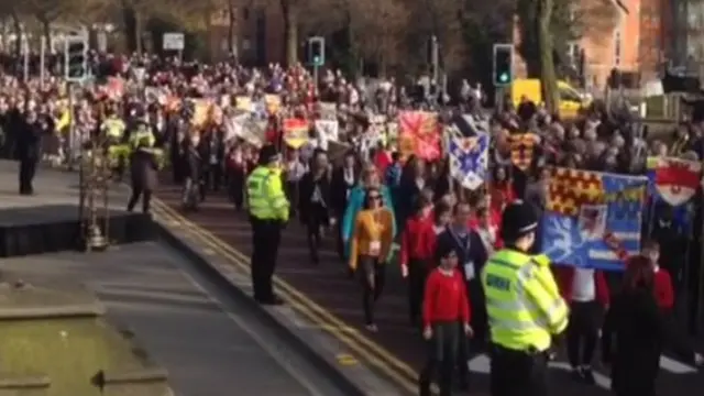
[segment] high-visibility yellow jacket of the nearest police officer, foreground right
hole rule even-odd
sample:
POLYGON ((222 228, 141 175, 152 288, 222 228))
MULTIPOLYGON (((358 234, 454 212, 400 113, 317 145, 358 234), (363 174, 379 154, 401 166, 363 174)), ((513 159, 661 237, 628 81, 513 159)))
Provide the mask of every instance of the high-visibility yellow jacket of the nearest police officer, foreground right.
POLYGON ((484 266, 482 285, 493 343, 517 351, 544 351, 551 336, 568 326, 568 306, 544 255, 503 249, 484 266))

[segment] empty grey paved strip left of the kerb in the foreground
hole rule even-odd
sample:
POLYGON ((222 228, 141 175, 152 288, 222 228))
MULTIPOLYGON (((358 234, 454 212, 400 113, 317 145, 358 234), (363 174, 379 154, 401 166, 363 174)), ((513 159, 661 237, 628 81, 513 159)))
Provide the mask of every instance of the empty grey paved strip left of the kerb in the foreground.
POLYGON ((165 245, 7 258, 0 271, 3 278, 69 279, 95 289, 108 319, 127 326, 168 371, 176 395, 345 395, 249 306, 165 245))

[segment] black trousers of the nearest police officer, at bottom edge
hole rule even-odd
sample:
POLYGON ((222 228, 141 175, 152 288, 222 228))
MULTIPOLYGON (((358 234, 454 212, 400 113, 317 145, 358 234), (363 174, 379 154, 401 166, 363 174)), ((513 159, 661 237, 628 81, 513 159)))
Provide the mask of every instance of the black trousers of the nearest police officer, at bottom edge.
POLYGON ((492 396, 547 396, 548 355, 491 345, 492 396))

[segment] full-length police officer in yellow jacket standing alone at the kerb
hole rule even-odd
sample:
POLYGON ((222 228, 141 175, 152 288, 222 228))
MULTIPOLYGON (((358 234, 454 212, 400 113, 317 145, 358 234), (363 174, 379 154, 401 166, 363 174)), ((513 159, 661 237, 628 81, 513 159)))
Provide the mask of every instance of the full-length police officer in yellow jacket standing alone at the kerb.
POLYGON ((282 184, 280 155, 273 145, 260 151, 260 163, 246 180, 248 204, 254 250, 252 253, 252 286, 260 304, 279 305, 274 295, 272 276, 282 228, 288 221, 289 204, 282 184))

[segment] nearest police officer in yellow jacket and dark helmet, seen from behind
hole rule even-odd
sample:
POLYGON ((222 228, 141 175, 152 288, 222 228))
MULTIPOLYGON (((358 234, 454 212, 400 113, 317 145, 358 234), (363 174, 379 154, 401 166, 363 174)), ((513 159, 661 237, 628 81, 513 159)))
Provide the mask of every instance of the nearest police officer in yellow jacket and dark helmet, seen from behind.
POLYGON ((548 394, 548 349, 568 326, 568 306, 544 255, 527 252, 536 241, 538 218, 517 201, 504 210, 506 248, 482 271, 491 330, 492 396, 548 394))

